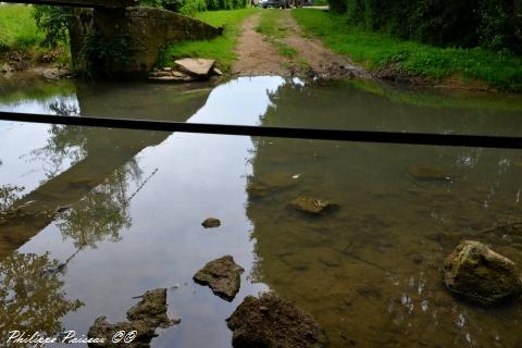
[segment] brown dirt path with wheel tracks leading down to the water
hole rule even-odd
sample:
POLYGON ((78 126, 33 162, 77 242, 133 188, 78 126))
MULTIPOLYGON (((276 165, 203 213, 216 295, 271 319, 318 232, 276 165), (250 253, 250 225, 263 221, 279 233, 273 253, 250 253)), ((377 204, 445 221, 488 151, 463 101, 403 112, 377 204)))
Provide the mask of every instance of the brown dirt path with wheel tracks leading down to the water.
POLYGON ((278 49, 269 42, 273 42, 274 38, 266 38, 256 32, 262 12, 248 18, 243 25, 243 35, 236 49, 238 60, 232 69, 233 74, 250 76, 277 74, 322 78, 369 76, 363 69, 355 65, 349 59, 333 53, 319 40, 304 38, 291 16, 291 10, 264 11, 281 11, 277 26, 285 29, 286 35, 279 40, 293 48, 297 54, 291 59, 281 57, 278 49))

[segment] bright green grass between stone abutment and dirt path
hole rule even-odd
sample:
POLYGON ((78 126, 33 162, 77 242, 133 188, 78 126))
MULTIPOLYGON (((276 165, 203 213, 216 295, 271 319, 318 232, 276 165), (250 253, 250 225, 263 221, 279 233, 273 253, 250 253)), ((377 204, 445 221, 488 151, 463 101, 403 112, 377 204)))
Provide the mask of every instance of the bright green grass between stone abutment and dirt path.
POLYGON ((215 59, 223 71, 229 71, 236 60, 234 48, 240 34, 241 22, 258 9, 200 12, 195 17, 213 26, 224 26, 223 35, 212 40, 185 41, 167 47, 161 54, 159 66, 172 66, 174 60, 185 57, 215 59))

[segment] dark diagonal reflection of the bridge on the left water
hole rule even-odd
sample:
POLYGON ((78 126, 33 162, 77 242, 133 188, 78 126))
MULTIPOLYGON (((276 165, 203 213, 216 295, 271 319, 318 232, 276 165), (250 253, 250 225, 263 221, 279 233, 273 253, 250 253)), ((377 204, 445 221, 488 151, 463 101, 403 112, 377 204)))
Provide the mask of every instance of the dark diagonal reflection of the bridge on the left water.
MULTIPOLYGON (((122 90, 116 88, 96 92, 91 90, 92 87, 89 87, 88 91, 83 91, 82 88, 78 90, 77 97, 84 115, 101 114, 108 104, 114 105, 114 109, 126 109, 133 101, 141 100, 140 95, 144 92, 142 88, 125 89, 126 99, 122 102, 122 90)), ((204 104, 209 92, 210 90, 198 90, 179 94, 178 98, 171 97, 164 104, 154 105, 154 113, 163 115, 156 120, 177 122, 188 120, 204 104)), ((139 115, 136 112, 133 114, 133 111, 126 113, 126 117, 133 116, 139 115)), ((0 224, 0 260, 52 223, 57 210, 74 204, 140 151, 161 144, 171 135, 166 132, 128 129, 82 130, 85 157, 12 204, 16 211, 13 217, 0 224)))

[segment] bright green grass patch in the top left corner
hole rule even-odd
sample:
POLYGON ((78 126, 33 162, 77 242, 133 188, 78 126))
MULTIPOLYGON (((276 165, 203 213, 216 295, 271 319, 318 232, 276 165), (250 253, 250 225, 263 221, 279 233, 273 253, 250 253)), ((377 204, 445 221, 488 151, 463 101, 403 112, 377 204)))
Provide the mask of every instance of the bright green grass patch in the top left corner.
POLYGON ((44 39, 33 18, 33 8, 0 4, 0 50, 25 50, 44 39))

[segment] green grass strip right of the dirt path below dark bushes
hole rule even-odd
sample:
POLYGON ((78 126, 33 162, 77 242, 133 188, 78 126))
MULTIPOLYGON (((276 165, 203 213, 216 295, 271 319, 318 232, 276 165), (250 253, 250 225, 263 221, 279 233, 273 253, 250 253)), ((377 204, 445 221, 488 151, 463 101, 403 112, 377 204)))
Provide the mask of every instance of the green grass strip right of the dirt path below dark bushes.
POLYGON ((522 58, 483 49, 436 48, 351 26, 346 17, 299 9, 293 15, 307 35, 370 70, 391 66, 411 75, 478 79, 501 90, 522 91, 522 58))

